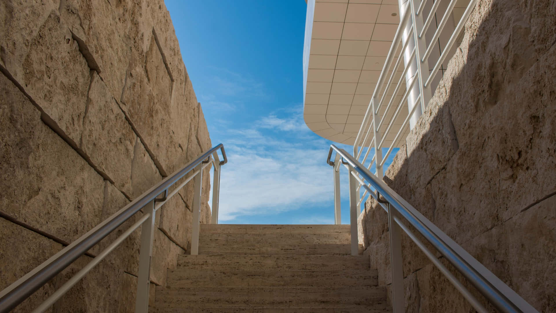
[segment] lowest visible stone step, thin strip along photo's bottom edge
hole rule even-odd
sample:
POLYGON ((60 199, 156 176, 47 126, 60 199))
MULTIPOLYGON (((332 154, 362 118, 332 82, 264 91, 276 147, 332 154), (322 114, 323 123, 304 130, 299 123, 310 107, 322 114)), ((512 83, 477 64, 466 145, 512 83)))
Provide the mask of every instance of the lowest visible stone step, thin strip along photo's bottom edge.
POLYGON ((165 309, 149 308, 151 313, 386 313, 386 307, 169 307, 165 309))

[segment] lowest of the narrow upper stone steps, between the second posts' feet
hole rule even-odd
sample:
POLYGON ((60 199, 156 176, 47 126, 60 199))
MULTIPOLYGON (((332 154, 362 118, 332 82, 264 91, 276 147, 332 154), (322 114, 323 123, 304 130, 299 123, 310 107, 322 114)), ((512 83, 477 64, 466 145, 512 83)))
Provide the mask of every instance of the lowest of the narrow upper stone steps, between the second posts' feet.
POLYGON ((349 244, 219 244, 199 241, 200 255, 349 255, 349 244))

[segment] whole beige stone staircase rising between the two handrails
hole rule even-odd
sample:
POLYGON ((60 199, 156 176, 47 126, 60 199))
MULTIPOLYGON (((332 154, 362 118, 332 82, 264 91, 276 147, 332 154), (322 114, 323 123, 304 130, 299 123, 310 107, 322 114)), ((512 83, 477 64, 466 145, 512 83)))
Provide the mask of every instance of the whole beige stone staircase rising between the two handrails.
POLYGON ((349 225, 202 224, 152 312, 390 312, 349 225))

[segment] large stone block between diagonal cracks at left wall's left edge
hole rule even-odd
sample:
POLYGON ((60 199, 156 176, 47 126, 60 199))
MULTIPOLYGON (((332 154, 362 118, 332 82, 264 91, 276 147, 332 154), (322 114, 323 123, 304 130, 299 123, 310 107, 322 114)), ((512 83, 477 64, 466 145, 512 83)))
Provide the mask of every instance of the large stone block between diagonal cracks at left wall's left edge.
POLYGON ((0 75, 2 211, 67 242, 101 221, 104 182, 0 75))

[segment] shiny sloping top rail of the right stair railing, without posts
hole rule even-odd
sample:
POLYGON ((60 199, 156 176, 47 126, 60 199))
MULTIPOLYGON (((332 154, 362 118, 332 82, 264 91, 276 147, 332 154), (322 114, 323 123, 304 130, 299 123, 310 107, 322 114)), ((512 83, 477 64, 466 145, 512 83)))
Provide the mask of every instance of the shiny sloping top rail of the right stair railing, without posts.
POLYGON ((454 242, 438 227, 431 223, 423 214, 419 213, 408 202, 395 193, 388 185, 370 173, 361 163, 344 149, 330 145, 330 149, 339 153, 347 163, 367 180, 378 193, 383 195, 400 217, 416 229, 447 261, 453 265, 477 290, 490 301, 498 310, 503 312, 537 312, 522 299, 512 288, 490 272, 479 261, 475 260, 459 244, 454 242), (456 252, 457 251, 457 252, 456 252), (518 308, 519 305, 519 308, 518 308))

